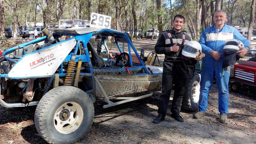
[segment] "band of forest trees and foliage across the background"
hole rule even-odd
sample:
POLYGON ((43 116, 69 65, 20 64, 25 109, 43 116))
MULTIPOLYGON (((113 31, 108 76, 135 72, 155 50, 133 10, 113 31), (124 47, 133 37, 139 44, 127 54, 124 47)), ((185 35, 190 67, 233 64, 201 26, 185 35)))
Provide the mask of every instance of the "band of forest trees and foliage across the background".
POLYGON ((248 27, 251 4, 252 0, 175 0, 174 3, 171 0, 1 0, 0 9, 4 5, 4 13, 0 16, 1 26, 16 29, 29 22, 46 26, 72 17, 89 20, 94 12, 111 16, 112 29, 127 32, 161 29, 161 32, 171 29, 174 15, 180 14, 185 17, 184 30, 198 39, 200 32, 212 25, 213 13, 218 9, 227 12, 227 24, 248 27))

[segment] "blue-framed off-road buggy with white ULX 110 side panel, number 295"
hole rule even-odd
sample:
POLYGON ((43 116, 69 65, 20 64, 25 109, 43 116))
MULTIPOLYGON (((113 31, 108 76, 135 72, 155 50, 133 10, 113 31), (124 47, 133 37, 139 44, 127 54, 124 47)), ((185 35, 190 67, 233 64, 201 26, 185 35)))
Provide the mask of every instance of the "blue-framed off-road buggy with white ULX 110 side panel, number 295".
MULTIPOLYGON (((139 55, 125 32, 102 28, 51 31, 45 29, 46 36, 0 54, 0 103, 5 107, 37 105, 35 127, 47 142, 72 143, 83 138, 93 123, 96 100, 106 102, 103 108, 107 108, 161 89, 162 68, 149 65, 157 55, 151 52, 144 57, 143 50, 139 55), (101 39, 96 48, 92 38, 101 39), (106 45, 109 39, 116 44, 111 50, 106 45)), ((184 98, 187 109, 198 90, 200 78, 194 78, 186 91, 190 96, 184 98)))

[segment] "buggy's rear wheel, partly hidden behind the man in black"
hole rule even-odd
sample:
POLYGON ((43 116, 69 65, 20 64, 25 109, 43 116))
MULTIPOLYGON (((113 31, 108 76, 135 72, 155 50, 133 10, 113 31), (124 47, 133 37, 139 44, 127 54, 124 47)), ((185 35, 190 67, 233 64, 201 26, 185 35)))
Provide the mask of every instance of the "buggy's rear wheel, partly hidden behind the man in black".
POLYGON ((200 94, 200 74, 195 72, 193 79, 186 82, 186 90, 182 100, 182 109, 186 111, 197 111, 200 94))

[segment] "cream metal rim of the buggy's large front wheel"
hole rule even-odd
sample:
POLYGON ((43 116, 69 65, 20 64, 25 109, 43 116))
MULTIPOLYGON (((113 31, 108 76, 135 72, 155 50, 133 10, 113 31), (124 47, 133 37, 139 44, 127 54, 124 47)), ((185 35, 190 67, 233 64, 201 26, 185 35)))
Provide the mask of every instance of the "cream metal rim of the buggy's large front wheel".
POLYGON ((59 133, 69 134, 76 131, 83 121, 83 109, 76 102, 61 105, 54 114, 54 127, 59 133))

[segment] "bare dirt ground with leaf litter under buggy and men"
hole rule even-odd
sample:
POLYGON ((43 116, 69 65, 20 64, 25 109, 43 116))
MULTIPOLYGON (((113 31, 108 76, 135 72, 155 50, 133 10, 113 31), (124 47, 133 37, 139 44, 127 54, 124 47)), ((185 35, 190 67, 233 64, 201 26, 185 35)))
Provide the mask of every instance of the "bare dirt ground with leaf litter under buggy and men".
MULTIPOLYGON (((230 92, 228 124, 218 122, 217 89, 210 92, 208 111, 203 119, 182 111, 185 121, 170 117, 169 102, 166 120, 151 121, 157 116, 160 91, 154 96, 103 109, 96 102, 95 119, 90 131, 76 144, 256 144, 256 98, 230 92)), ((0 106, 1 144, 45 144, 33 122, 35 106, 5 108, 0 106)))

